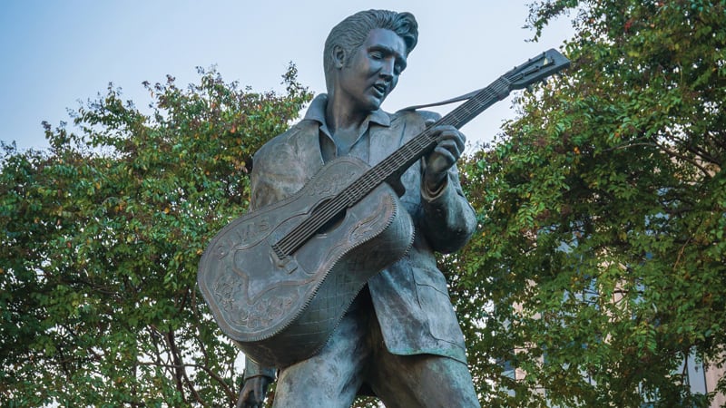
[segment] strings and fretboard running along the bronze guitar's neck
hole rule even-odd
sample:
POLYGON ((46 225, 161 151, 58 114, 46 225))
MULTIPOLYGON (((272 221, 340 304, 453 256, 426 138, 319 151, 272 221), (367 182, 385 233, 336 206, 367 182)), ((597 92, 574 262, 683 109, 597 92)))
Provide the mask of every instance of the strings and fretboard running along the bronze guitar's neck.
MULTIPOLYGON (((471 121, 479 113, 486 110, 488 106, 497 100, 503 99, 508 92, 509 82, 505 77, 495 81, 491 86, 486 87, 482 92, 476 94, 472 99, 466 101, 454 112, 449 113, 440 119, 435 125, 454 125, 459 128, 471 121)), ((433 126, 432 126, 433 128, 433 126)), ((273 244, 278 256, 284 257, 294 252, 312 237, 319 228, 333 219, 344 209, 354 205, 372 189, 378 187, 383 181, 399 170, 400 162, 417 160, 417 155, 426 151, 432 144, 430 131, 423 131, 416 138, 404 144, 400 149, 389 155, 377 166, 367 170, 358 180, 340 191, 333 199, 325 202, 312 217, 304 219, 298 226, 293 228, 273 244)))

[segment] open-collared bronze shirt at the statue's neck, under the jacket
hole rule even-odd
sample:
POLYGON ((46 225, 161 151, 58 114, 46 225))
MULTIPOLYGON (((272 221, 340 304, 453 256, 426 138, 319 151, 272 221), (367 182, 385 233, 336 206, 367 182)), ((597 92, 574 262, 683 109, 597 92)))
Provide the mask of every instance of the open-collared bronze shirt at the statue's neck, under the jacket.
POLYGON ((325 109, 328 105, 328 95, 319 94, 311 103, 308 112, 305 113, 305 120, 317 121, 320 125, 320 152, 323 160, 326 162, 333 160, 338 156, 353 156, 360 160, 368 162, 370 152, 369 128, 371 123, 374 125, 389 127, 391 125, 388 113, 378 109, 370 112, 363 124, 360 126, 360 133, 353 144, 350 145, 349 151, 341 151, 335 138, 330 134, 328 122, 325 121, 325 109))

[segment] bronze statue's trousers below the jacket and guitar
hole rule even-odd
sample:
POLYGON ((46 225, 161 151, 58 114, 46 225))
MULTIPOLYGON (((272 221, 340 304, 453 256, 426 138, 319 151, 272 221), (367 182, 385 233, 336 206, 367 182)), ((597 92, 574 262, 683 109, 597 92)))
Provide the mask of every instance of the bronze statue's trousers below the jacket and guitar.
POLYGON ((388 352, 368 290, 318 355, 280 372, 272 406, 346 408, 361 389, 375 393, 387 408, 480 407, 466 364, 388 352))

